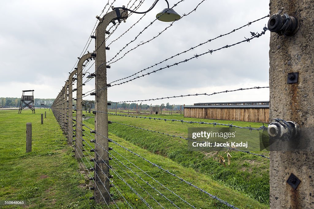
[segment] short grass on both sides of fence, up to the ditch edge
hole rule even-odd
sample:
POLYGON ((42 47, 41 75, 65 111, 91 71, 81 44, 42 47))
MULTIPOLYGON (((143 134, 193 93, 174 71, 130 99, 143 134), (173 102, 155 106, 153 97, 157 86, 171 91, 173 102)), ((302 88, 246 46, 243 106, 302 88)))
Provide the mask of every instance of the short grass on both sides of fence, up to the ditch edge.
MULTIPOLYGON (((47 110, 46 110, 47 111, 47 110)), ((92 191, 86 190, 85 178, 79 171, 77 161, 71 157, 71 147, 66 145, 66 138, 62 135, 62 131, 58 123, 53 118, 51 112, 47 112, 47 118, 44 119, 44 124, 40 124, 40 113, 44 110, 36 110, 36 114, 25 110, 22 114, 17 114, 16 111, 1 111, 0 112, 0 200, 24 200, 26 205, 19 206, 20 208, 106 208, 106 206, 95 205, 93 201, 89 201, 92 196, 92 191), (25 128, 26 123, 32 123, 33 146, 32 152, 25 153, 25 128)), ((86 121, 90 128, 93 128, 93 119, 86 121)), ((85 136, 87 141, 87 135, 85 136)), ((192 182, 193 184, 203 188, 204 190, 218 196, 219 198, 235 204, 239 208, 268 208, 257 201, 254 201, 241 193, 236 192, 224 185, 213 181, 208 175, 197 173, 192 168, 185 168, 176 164, 173 160, 163 156, 152 154, 148 150, 141 149, 129 141, 110 135, 117 143, 131 149, 149 159, 150 161, 161 165, 179 177, 192 182)), ((93 144, 88 143, 93 147, 93 144)), ((89 150, 89 145, 86 144, 85 149, 89 150)), ((112 145, 113 151, 110 151, 115 157, 110 161, 113 169, 121 175, 130 186, 132 186, 138 194, 145 199, 153 208, 158 208, 157 202, 165 208, 174 208, 174 206, 166 201, 157 191, 153 190, 146 182, 155 187, 161 194, 167 196, 170 200, 181 208, 192 208, 177 197, 173 196, 169 191, 159 183, 154 182, 148 176, 144 175, 140 170, 123 159, 117 153, 130 160, 133 164, 140 167, 147 174, 154 177, 165 187, 174 191, 184 200, 188 201, 196 208, 228 208, 213 201, 204 193, 195 188, 181 182, 172 175, 162 172, 160 169, 151 166, 149 163, 138 158, 134 154, 125 149, 112 145), (120 164, 119 159, 124 165, 131 168, 144 180, 134 175, 131 170, 128 170, 124 165, 120 164), (120 167, 121 166, 121 167, 120 167), (126 172, 124 172, 123 170, 126 172), (143 189, 148 191, 152 196, 149 196, 140 188, 129 176, 132 176, 143 189)), ((92 157, 94 153, 85 152, 86 156, 92 157)), ((89 159, 89 157, 87 158, 89 159)), ((85 163, 87 159, 84 160, 85 163)), ((88 163, 86 163, 89 165, 88 163)), ((140 196, 130 191, 129 187, 114 175, 113 183, 115 187, 111 188, 111 193, 114 194, 113 200, 119 208, 130 208, 126 201, 118 194, 120 191, 133 208, 147 208, 141 201, 140 196), (117 188, 117 189, 116 189, 117 188)), ((0 206, 5 208, 18 208, 17 206, 0 206)), ((110 205, 110 208, 116 208, 115 205, 110 205)))

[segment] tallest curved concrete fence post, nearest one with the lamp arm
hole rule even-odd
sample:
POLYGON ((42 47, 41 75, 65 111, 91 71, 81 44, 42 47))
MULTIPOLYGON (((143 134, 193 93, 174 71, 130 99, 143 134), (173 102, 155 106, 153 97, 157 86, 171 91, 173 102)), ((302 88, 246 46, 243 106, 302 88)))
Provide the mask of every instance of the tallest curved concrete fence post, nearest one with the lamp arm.
MULTIPOLYGON (((120 10, 122 18, 127 18, 127 11, 120 10)), ((112 11, 101 18, 96 29, 96 60, 95 60, 95 189, 96 202, 110 204, 109 186, 109 144, 108 144, 108 100, 107 100, 107 66, 106 66, 106 28, 109 23, 118 19, 116 11, 112 11), (105 87, 105 88, 104 88, 105 87), (104 138, 104 137, 106 138, 104 138), (104 150, 104 149, 105 150, 104 150), (96 165, 97 164, 97 165, 96 165), (105 174, 104 174, 104 173, 105 174), (97 175, 96 175, 97 174, 97 175), (102 184, 102 183, 105 185, 102 184), (104 198, 103 198, 103 197, 104 198)))

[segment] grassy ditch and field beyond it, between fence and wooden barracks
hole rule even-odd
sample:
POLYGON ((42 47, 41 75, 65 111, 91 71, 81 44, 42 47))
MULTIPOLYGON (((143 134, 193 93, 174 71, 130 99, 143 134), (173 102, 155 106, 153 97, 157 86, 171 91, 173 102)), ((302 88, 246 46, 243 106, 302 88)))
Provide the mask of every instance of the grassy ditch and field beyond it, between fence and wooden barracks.
MULTIPOLYGON (((152 117, 199 121, 197 118, 183 118, 183 115, 180 114, 153 115, 152 117)), ((182 124, 180 122, 171 123, 171 121, 165 122, 142 118, 128 118, 115 115, 109 115, 109 120, 182 137, 187 137, 188 127, 209 126, 203 124, 182 124)), ((208 119, 201 120, 204 122, 214 122, 213 120, 208 119)), ((244 127, 249 125, 252 127, 259 127, 262 125, 261 123, 236 121, 222 121, 222 123, 233 123, 234 125, 244 127)), ((218 158, 213 161, 215 152, 202 153, 197 151, 187 151, 187 141, 184 139, 168 137, 163 134, 152 133, 115 123, 109 125, 109 132, 124 138, 141 148, 147 149, 152 153, 170 158, 184 167, 193 168, 199 173, 205 174, 213 180, 220 181, 265 205, 269 204, 269 159, 231 151, 231 164, 227 165, 225 168, 219 163, 218 158)), ((269 153, 265 152, 255 153, 269 156, 269 153)), ((220 152, 220 154, 227 159, 224 152, 220 152)))

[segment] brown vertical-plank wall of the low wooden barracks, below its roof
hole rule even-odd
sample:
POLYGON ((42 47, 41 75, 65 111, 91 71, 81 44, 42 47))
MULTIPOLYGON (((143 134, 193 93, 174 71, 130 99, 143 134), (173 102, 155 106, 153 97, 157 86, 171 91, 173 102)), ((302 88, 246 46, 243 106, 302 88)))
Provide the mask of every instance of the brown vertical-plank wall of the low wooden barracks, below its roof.
POLYGON ((269 108, 184 108, 184 117, 268 123, 269 108))

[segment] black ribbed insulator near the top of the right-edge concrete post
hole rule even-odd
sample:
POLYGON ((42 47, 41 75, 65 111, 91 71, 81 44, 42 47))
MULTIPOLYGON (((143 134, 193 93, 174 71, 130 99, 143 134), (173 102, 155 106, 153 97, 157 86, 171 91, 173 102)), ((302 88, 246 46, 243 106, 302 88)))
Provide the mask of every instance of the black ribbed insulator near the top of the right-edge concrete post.
POLYGON ((295 17, 276 13, 270 16, 267 27, 269 31, 279 35, 292 36, 299 30, 300 22, 295 17))

